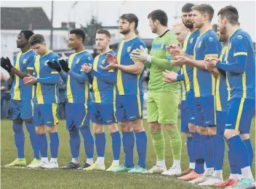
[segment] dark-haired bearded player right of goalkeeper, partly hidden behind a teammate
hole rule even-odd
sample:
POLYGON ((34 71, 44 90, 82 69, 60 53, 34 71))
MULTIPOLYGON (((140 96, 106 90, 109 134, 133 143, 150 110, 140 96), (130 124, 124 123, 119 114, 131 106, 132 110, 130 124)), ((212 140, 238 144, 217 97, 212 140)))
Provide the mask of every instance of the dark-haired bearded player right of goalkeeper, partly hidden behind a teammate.
MULTIPOLYGON (((196 28, 193 28, 193 22, 191 20, 192 17, 192 7, 194 4, 185 4, 182 8, 182 16, 183 24, 185 25, 190 33, 188 33, 185 38, 185 42, 183 45, 183 51, 178 48, 178 46, 168 46, 167 50, 172 56, 178 56, 179 54, 186 54, 186 56, 193 58, 194 54, 194 46, 196 44, 196 40, 200 35, 200 31, 196 28), (173 48, 175 47, 175 48, 173 48)), ((182 75, 177 75, 175 72, 164 72, 164 78, 167 82, 172 83, 177 80, 184 80, 185 82, 185 100, 188 107, 188 116, 189 121, 188 125, 186 125, 183 130, 187 131, 187 148, 188 148, 188 156, 189 156, 189 168, 182 172, 178 177, 180 180, 193 180, 200 176, 201 173, 204 172, 204 156, 203 149, 201 148, 201 135, 197 133, 194 111, 195 111, 195 103, 194 103, 194 92, 193 92, 193 67, 188 64, 182 65, 182 75), (189 132, 188 132, 189 130, 189 132)))

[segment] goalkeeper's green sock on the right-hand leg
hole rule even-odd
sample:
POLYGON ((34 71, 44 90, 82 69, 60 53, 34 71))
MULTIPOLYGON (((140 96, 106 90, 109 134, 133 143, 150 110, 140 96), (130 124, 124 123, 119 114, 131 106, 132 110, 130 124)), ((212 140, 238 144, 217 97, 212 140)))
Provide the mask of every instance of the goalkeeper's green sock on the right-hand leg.
POLYGON ((174 127, 171 130, 167 130, 167 134, 171 143, 173 159, 180 160, 182 146, 180 132, 177 130, 177 127, 174 127))

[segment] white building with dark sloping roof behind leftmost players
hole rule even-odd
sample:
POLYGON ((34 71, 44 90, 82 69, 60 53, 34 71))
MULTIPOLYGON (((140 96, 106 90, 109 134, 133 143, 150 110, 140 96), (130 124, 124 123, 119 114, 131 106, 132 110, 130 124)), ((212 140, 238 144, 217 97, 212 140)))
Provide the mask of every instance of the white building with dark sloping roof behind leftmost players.
MULTIPOLYGON (((41 7, 1 7, 1 56, 13 60, 17 34, 30 29, 44 35, 50 46, 51 22, 41 7)), ((68 28, 53 28, 52 49, 68 49, 68 28)))

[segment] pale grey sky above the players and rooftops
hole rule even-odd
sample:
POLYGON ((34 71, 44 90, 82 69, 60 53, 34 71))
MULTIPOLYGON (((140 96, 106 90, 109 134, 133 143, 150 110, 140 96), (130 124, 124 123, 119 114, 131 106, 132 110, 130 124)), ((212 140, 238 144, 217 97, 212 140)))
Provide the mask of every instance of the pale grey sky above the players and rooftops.
MULTIPOLYGON (((85 25, 92 15, 98 17, 103 25, 117 25, 116 20, 123 13, 132 12, 139 18, 140 36, 153 38, 148 26, 148 13, 154 9, 163 9, 169 17, 169 27, 175 23, 175 8, 180 16, 181 7, 189 1, 79 1, 73 9, 75 1, 54 1, 54 27, 60 27, 61 22, 74 21, 85 25), (70 12, 70 17, 68 16, 70 12)), ((246 30, 255 41, 255 1, 191 1, 194 4, 207 3, 215 9, 212 23, 217 23, 217 12, 227 5, 232 4, 239 11, 241 28, 246 30)), ((43 7, 44 12, 50 18, 51 1, 1 1, 1 7, 43 7)), ((79 27, 79 25, 76 25, 79 27)))

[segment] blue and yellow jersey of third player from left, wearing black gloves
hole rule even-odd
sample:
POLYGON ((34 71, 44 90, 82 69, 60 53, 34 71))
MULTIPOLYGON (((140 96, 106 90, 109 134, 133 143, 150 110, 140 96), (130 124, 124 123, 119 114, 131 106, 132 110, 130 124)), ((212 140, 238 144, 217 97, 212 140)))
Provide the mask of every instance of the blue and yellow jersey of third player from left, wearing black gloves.
MULTIPOLYGON (((88 51, 84 50, 79 53, 71 54, 68 58, 68 67, 76 73, 83 72, 81 66, 83 64, 92 64, 92 55, 88 51)), ((85 81, 79 82, 71 75, 68 75, 67 79, 67 90, 65 91, 65 101, 76 104, 87 104, 90 101, 89 96, 89 83, 85 81)))

